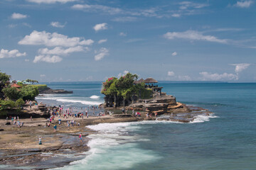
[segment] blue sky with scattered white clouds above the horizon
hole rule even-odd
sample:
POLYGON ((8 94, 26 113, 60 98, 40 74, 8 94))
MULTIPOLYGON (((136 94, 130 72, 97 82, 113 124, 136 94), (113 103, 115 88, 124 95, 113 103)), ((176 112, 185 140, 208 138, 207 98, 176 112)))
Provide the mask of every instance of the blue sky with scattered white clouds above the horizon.
POLYGON ((1 0, 12 79, 256 82, 255 0, 1 0))

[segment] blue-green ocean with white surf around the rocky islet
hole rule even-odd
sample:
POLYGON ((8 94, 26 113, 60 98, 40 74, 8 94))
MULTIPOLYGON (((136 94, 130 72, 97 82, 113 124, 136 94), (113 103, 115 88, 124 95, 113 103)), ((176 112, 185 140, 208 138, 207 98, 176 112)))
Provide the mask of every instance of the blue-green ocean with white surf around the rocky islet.
MULTIPOLYGON (((48 105, 86 108, 103 103, 100 82, 49 83, 73 94, 38 96, 48 105)), ((192 123, 142 121, 89 128, 90 151, 60 169, 256 169, 256 84, 168 84, 163 91, 214 114, 192 123)))

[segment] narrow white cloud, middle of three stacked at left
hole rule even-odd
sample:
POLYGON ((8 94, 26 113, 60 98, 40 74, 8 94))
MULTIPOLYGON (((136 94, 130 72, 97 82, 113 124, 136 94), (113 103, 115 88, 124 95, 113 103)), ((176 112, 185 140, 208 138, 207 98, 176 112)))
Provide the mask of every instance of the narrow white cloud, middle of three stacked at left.
POLYGON ((49 50, 48 48, 41 48, 38 50, 38 53, 41 55, 68 55, 69 53, 73 52, 82 52, 84 50, 88 50, 87 47, 77 46, 77 47, 69 47, 69 48, 63 48, 63 47, 55 47, 52 50, 49 50))

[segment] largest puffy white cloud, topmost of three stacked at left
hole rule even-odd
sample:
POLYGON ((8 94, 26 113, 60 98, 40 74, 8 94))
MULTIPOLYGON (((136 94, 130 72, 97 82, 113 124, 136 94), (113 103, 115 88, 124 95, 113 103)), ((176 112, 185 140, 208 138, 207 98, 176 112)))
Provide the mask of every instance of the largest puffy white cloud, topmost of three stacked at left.
POLYGON ((73 47, 77 45, 91 45, 93 40, 85 40, 84 38, 68 38, 67 35, 58 33, 47 33, 46 31, 38 32, 33 30, 30 35, 26 35, 18 42, 20 45, 46 45, 46 46, 63 46, 73 47))

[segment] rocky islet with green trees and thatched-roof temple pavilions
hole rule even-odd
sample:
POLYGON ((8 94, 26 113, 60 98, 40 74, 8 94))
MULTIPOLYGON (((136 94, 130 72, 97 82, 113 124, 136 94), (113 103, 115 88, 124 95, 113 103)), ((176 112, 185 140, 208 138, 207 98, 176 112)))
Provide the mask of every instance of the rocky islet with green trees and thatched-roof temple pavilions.
POLYGON ((174 96, 163 93, 163 87, 153 78, 135 79, 129 86, 127 84, 124 86, 127 79, 135 78, 131 75, 119 79, 112 77, 103 83, 102 94, 105 94, 106 108, 126 107, 154 114, 171 113, 176 108, 183 108, 183 104, 176 102, 174 96), (122 95, 127 91, 130 95, 122 95))

